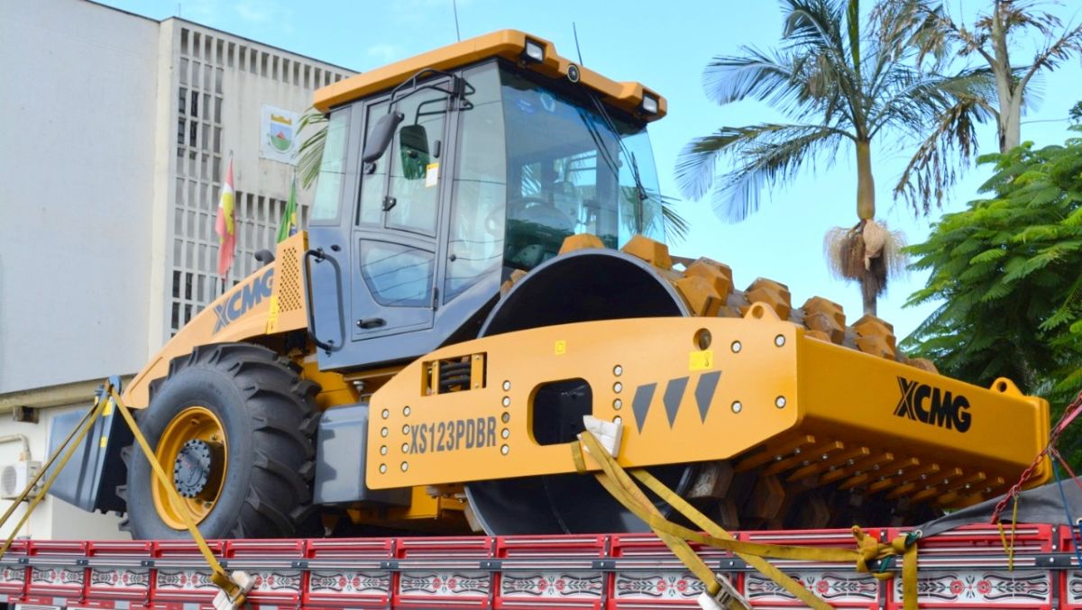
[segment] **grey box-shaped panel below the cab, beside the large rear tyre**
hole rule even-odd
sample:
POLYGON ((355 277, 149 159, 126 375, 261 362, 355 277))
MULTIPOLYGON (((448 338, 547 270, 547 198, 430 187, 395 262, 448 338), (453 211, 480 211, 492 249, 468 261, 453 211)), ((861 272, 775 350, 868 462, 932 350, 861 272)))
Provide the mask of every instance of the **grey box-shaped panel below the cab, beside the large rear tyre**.
POLYGON ((410 489, 371 490, 365 486, 368 405, 328 409, 316 437, 314 502, 374 502, 408 506, 410 489))

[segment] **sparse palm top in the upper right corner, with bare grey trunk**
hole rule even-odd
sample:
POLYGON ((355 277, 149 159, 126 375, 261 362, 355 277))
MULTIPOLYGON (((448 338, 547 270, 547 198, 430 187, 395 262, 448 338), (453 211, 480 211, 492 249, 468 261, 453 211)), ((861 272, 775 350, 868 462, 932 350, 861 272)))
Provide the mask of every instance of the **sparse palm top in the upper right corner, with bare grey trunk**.
POLYGON ((1063 26, 1058 17, 1037 9, 1041 2, 992 0, 991 12, 977 15, 973 28, 959 25, 944 4, 934 0, 905 3, 905 10, 919 22, 913 40, 922 53, 936 57, 976 54, 986 64, 981 69, 992 75, 995 87, 980 102, 995 117, 1003 154, 1021 143, 1026 88, 1033 77, 1082 52, 1082 25, 1063 26), (1017 65, 1011 61, 1011 38, 1027 29, 1043 37, 1044 43, 1029 63, 1017 65))

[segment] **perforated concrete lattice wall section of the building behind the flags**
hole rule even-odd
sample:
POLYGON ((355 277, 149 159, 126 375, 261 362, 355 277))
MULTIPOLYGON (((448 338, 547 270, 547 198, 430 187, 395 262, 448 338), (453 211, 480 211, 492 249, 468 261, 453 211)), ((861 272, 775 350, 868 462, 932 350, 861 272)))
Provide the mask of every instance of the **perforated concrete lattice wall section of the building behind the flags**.
MULTIPOLYGON (((236 262, 225 286, 255 270, 256 251, 274 250, 293 165, 260 155, 265 135, 262 106, 303 114, 316 89, 352 74, 179 19, 163 22, 167 36, 174 63, 162 74, 169 75, 174 92, 162 100, 161 109, 175 117, 170 121, 175 144, 170 172, 175 177, 166 205, 172 213, 163 218, 164 233, 171 236, 164 252, 166 297, 161 317, 151 318, 151 324, 160 319, 161 326, 150 329, 150 336, 162 340, 222 292, 213 225, 230 159, 238 235, 236 262)), ((300 189, 298 199, 304 226, 312 194, 300 189)))

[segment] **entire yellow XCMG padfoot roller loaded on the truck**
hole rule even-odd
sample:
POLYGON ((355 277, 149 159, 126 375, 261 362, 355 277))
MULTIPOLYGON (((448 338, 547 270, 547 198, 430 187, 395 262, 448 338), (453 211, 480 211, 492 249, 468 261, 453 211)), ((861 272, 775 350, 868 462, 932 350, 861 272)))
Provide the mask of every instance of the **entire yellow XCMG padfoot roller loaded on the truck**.
MULTIPOLYGON (((126 388, 155 448, 119 490, 136 538, 186 538, 185 517, 209 538, 644 530, 585 474, 588 421, 744 529, 919 520, 1042 447, 1047 405, 1010 381, 942 377, 878 318, 672 256, 647 135, 665 101, 637 82, 505 30, 315 107, 307 230, 126 388)), ((115 509, 78 474, 58 496, 115 509)))

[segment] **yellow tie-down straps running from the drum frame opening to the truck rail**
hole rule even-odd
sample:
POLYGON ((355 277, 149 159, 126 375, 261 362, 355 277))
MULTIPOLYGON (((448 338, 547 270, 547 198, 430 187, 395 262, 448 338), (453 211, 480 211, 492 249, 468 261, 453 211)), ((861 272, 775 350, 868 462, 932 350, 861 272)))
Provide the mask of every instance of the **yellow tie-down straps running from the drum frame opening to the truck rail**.
MULTIPOLYGON (((905 558, 901 574, 903 608, 905 610, 916 610, 915 535, 900 535, 890 541, 889 544, 884 544, 866 535, 859 527, 854 526, 853 535, 857 543, 856 549, 761 544, 739 541, 645 469, 635 468, 624 470, 612 455, 601 446, 592 433, 580 434, 579 441, 571 443, 571 452, 579 474, 588 474, 586 459, 593 460, 601 466, 602 469, 593 474, 597 477, 602 487, 620 504, 646 521, 654 532, 658 534, 658 538, 687 566, 691 573, 702 581, 707 593, 711 596, 717 595, 722 589, 722 584, 717 582, 717 576, 713 570, 707 566, 688 544, 690 542, 734 553, 737 557, 758 570, 763 575, 777 583, 809 608, 817 610, 826 610, 833 607, 808 591, 799 581, 773 566, 765 559, 766 557, 796 561, 853 563, 858 572, 871 572, 879 580, 888 580, 894 578, 892 572, 874 570, 871 563, 901 555, 905 558), (679 512, 690 522, 701 528, 702 531, 690 530, 662 517, 660 510, 654 505, 654 502, 646 496, 638 485, 632 480, 632 477, 638 479, 647 489, 679 512)), ((889 565, 889 561, 884 563, 889 565)), ((740 608, 741 606, 738 601, 730 600, 729 607, 740 608)))

